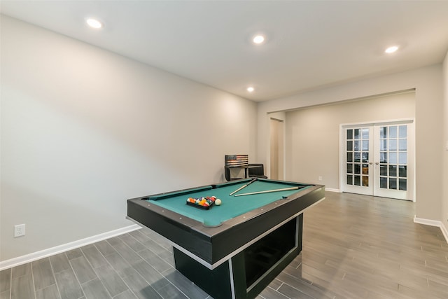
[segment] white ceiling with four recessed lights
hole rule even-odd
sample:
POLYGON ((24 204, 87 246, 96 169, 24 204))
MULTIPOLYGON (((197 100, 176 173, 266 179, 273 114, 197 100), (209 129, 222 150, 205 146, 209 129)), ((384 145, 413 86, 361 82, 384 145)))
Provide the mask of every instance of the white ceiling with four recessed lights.
POLYGON ((448 50, 448 1, 2 0, 0 7, 255 101, 437 64, 448 50), (88 28, 88 16, 104 28, 88 28), (258 32, 267 35, 263 46, 250 41, 258 32), (400 50, 386 55, 391 45, 400 50))

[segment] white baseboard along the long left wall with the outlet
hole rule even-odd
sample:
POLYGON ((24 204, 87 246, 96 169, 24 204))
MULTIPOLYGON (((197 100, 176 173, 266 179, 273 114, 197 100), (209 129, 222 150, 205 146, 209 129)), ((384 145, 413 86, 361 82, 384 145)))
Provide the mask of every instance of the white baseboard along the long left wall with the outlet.
POLYGON ((57 253, 62 253, 64 251, 69 251, 71 249, 76 249, 81 246, 92 244, 95 242, 102 241, 104 239, 109 239, 111 237, 116 237, 118 235, 123 235, 126 232, 132 232, 134 230, 139 230, 141 226, 137 224, 126 226, 125 228, 119 228, 118 230, 111 230, 110 232, 104 232, 99 235, 92 237, 87 237, 85 239, 79 239, 70 243, 55 246, 49 249, 44 249, 41 251, 36 251, 34 253, 26 254, 25 256, 18 256, 17 258, 11 258, 10 260, 3 260, 0 262, 0 271, 8 269, 10 267, 15 267, 18 265, 23 265, 25 263, 32 262, 33 260, 39 260, 41 258, 46 258, 47 256, 54 256, 57 253))

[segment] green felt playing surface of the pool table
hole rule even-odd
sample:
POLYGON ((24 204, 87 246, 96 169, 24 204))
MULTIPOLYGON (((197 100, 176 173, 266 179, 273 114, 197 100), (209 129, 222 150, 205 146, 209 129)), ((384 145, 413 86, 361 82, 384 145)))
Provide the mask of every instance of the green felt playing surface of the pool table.
MULTIPOLYGON (((217 185, 217 188, 206 186, 174 193, 165 193, 164 195, 150 197, 148 201, 183 216, 193 218, 196 221, 204 223, 204 225, 214 226, 219 225, 224 221, 228 221, 231 218, 235 218, 241 214, 245 214, 248 211, 252 211, 253 209, 262 207, 265 204, 275 202, 276 200, 281 200, 283 197, 288 197, 289 195, 299 192, 299 190, 286 190, 239 197, 235 197, 234 195, 230 196, 230 193, 237 190, 241 186, 244 186, 249 181, 250 180, 241 181, 233 184, 224 183, 217 185), (206 196, 216 196, 216 198, 221 199, 221 206, 214 205, 210 209, 204 210, 186 204, 188 197, 197 198, 206 196)), ((295 186, 303 187, 304 185, 300 183, 260 180, 251 183, 242 190, 239 190, 235 193, 235 195, 263 190, 290 188, 295 186)), ((304 186, 304 188, 306 188, 306 186, 304 186)), ((300 190, 303 190, 304 188, 300 188, 300 190)))

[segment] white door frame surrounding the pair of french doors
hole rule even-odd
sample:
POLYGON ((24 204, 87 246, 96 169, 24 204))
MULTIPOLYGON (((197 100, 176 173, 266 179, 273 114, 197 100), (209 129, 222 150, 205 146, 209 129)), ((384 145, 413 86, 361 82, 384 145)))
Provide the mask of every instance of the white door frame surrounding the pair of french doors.
MULTIPOLYGON (((398 123, 412 123, 413 127, 415 127, 415 119, 414 118, 402 118, 402 119, 395 119, 395 120, 378 120, 378 121, 370 121, 370 122, 365 122, 365 123, 343 123, 343 124, 339 124, 339 190, 340 192, 344 192, 344 178, 345 178, 345 173, 344 173, 344 155, 346 155, 345 153, 345 146, 346 146, 346 141, 345 141, 345 127, 350 127, 350 126, 379 126, 379 125, 393 125, 393 124, 398 124, 398 123)), ((416 178, 416 167, 415 167, 415 130, 412 130, 411 132, 412 136, 408 136, 409 141, 412 142, 412 148, 414 149, 412 151, 412 155, 408 157, 408 160, 412 162, 412 170, 413 170, 413 177, 412 177, 412 182, 411 182, 411 186, 412 188, 409 188, 408 192, 408 197, 410 198, 410 200, 412 200, 413 202, 415 202, 415 190, 416 190, 416 184, 415 184, 415 178, 416 178)), ((410 164, 410 162, 409 162, 410 164)))

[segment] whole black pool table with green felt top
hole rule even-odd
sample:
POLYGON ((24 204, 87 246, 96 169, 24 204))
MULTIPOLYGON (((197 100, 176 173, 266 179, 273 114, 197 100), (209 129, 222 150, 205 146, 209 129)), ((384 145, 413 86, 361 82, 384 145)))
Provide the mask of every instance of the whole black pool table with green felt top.
POLYGON ((243 179, 132 198, 127 218, 166 237, 176 269, 213 298, 248 299, 300 253, 303 211, 324 198, 322 185, 243 179), (187 204, 207 196, 221 205, 187 204))

